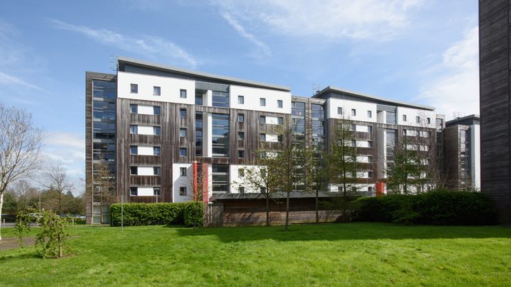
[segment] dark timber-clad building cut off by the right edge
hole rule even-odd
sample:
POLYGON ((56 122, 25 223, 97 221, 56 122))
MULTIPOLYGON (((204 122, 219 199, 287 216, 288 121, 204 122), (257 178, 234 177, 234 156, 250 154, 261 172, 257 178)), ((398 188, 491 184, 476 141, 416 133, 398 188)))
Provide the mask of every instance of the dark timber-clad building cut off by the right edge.
POLYGON ((510 1, 479 0, 481 192, 511 224, 510 1))

